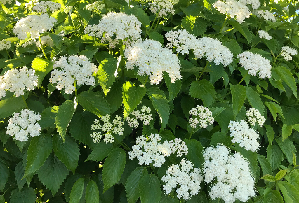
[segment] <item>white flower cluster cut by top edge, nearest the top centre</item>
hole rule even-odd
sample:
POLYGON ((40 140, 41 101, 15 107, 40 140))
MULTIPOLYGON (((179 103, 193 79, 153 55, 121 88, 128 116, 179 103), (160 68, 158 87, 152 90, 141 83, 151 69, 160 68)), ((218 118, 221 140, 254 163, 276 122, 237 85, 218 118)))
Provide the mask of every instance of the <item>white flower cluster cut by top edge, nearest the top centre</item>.
MULTIPOLYGON (((176 3, 176 1, 175 1, 176 3)), ((168 14, 174 15, 173 3, 169 0, 152 0, 149 3, 149 10, 158 15, 158 18, 168 16, 168 14)))

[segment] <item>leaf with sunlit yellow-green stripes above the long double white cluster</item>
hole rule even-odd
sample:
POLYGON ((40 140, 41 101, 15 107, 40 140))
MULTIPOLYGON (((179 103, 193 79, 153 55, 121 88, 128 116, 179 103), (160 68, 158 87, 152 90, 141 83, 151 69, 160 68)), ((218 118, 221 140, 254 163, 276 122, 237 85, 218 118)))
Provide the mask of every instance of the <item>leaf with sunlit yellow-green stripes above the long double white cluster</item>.
POLYGON ((182 19, 182 27, 196 37, 205 33, 207 21, 199 16, 186 16, 182 19))

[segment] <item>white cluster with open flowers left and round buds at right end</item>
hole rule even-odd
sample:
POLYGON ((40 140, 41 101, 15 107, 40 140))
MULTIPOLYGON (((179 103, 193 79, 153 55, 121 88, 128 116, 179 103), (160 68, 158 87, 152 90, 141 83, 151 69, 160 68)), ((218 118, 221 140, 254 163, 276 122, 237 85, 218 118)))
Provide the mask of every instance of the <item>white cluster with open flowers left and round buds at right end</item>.
POLYGON ((177 157, 188 153, 188 147, 181 139, 174 141, 164 141, 161 143, 161 137, 158 134, 144 135, 136 138, 136 144, 132 146, 133 151, 129 151, 129 158, 133 160, 135 157, 139 160, 140 165, 149 165, 153 163, 154 167, 161 167, 165 162, 165 156, 170 156, 177 152, 177 157))

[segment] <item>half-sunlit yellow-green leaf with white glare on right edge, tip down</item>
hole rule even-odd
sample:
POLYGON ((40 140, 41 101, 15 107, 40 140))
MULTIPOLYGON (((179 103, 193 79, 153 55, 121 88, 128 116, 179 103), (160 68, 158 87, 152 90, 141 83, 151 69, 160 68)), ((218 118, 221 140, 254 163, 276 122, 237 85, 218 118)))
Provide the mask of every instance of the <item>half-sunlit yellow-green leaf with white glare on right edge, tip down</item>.
POLYGON ((99 69, 97 71, 97 79, 104 90, 104 94, 107 95, 111 85, 115 81, 117 70, 117 59, 106 58, 100 62, 99 69))

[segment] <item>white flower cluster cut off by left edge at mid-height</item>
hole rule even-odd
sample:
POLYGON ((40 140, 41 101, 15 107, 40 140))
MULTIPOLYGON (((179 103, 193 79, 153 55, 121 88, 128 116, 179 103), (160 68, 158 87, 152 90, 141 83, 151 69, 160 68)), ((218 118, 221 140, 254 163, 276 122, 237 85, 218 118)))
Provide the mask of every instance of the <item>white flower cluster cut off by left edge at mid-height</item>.
POLYGON ((6 91, 15 92, 16 96, 24 95, 24 90, 33 90, 37 86, 37 76, 34 69, 26 66, 18 69, 7 70, 0 76, 0 100, 6 96, 6 91))

